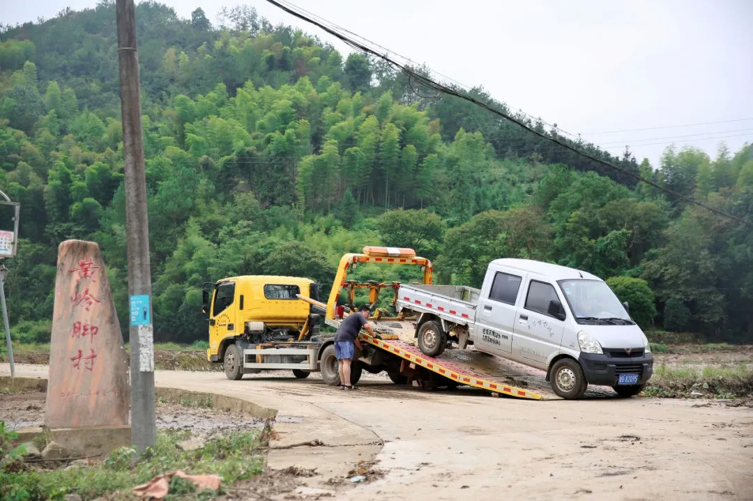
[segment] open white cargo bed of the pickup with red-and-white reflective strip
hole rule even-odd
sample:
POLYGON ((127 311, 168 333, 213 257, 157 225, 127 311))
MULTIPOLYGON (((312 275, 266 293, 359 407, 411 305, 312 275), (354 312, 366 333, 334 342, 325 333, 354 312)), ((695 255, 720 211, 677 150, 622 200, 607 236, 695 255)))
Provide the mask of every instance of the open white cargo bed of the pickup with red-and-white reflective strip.
POLYGON ((398 311, 431 313, 460 325, 470 326, 476 317, 481 291, 462 285, 401 285, 398 311))

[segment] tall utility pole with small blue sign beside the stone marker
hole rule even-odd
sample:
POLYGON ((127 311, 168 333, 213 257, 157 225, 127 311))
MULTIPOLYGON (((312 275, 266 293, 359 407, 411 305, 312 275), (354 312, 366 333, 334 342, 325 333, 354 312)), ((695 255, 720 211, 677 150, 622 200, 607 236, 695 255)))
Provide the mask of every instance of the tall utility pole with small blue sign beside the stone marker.
POLYGON ((139 96, 139 55, 133 0, 116 0, 117 59, 125 157, 126 232, 131 344, 131 443, 141 452, 154 445, 154 339, 151 323, 149 227, 144 141, 139 96))

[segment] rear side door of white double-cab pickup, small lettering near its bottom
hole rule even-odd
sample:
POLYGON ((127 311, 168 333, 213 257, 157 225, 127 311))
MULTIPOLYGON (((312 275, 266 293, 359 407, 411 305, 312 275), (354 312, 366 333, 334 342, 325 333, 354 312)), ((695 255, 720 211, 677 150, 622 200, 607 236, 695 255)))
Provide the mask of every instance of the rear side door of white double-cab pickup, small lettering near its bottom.
POLYGON ((481 351, 509 354, 513 348, 515 328, 515 302, 520 283, 525 278, 514 272, 489 270, 485 283, 491 281, 488 292, 483 290, 477 306, 478 318, 474 332, 474 344, 481 351))

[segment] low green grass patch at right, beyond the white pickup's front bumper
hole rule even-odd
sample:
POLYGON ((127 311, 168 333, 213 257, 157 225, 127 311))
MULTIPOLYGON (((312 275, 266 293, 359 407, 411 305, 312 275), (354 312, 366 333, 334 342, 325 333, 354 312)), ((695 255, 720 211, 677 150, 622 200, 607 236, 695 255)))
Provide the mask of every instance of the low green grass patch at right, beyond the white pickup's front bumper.
POLYGON ((735 398, 753 391, 753 368, 745 363, 727 366, 669 367, 654 366, 654 375, 648 381, 648 396, 704 396, 735 398))

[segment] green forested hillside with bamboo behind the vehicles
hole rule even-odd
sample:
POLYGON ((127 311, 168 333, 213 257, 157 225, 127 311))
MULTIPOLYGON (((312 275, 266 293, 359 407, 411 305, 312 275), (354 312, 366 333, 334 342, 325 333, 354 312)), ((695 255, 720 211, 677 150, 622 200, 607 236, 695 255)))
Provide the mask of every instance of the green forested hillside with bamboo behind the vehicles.
MULTIPOLYGON (((389 244, 474 286, 497 257, 575 266, 611 278, 645 327, 753 342, 750 146, 669 147, 652 166, 578 144, 733 220, 250 8, 220 27, 153 2, 136 18, 157 340, 206 339, 205 281, 303 275, 326 291, 341 254, 389 244)), ((99 242, 127 326, 114 23, 105 1, 0 34, 0 187, 23 236, 8 299, 25 342, 49 336, 66 238, 99 242)))

